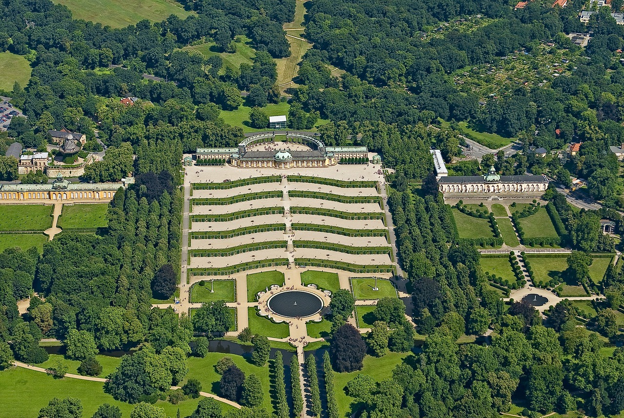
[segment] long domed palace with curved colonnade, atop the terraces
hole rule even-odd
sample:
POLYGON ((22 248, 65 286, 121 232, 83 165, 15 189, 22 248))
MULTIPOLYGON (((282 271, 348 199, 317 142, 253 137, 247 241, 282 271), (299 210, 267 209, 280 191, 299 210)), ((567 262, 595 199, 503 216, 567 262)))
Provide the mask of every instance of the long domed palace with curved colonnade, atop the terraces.
POLYGON ((311 134, 285 135, 287 145, 278 145, 275 134, 267 132, 246 138, 238 148, 197 148, 195 157, 198 163, 217 160, 243 168, 330 167, 339 162, 368 162, 366 147, 326 147, 311 134))

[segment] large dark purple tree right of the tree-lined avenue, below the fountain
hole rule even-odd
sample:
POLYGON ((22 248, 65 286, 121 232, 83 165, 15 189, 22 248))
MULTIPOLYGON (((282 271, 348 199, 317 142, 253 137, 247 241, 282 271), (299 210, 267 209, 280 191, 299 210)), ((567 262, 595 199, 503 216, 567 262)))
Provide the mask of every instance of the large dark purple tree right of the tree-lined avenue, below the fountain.
POLYGON ((344 324, 334 333, 329 353, 337 372, 361 370, 366 355, 366 343, 353 325, 344 324))

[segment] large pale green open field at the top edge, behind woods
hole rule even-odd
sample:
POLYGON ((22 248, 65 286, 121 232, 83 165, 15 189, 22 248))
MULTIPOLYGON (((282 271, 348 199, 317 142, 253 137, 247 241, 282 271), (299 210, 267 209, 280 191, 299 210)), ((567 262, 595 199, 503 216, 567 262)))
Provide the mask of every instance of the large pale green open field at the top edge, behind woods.
POLYGON ((172 14, 184 19, 192 14, 167 0, 57 0, 69 7, 74 19, 100 22, 110 27, 126 27, 143 19, 160 22, 172 14))

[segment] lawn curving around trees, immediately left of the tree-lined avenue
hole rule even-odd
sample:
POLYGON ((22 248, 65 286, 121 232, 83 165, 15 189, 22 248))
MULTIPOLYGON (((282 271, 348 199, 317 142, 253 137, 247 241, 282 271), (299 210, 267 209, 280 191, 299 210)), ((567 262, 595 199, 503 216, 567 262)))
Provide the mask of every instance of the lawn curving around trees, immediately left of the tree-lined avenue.
MULTIPOLYGON (((209 352, 206 354, 206 357, 203 357, 203 359, 198 357, 188 357, 188 373, 185 381, 180 382, 180 386, 185 384, 188 379, 197 379, 202 383, 202 391, 220 395, 219 381, 221 380, 221 375, 215 371, 215 364, 217 364, 217 361, 221 357, 230 357, 234 364, 236 364, 236 367, 245 373, 245 376, 252 373, 258 376, 258 379, 260 379, 260 383, 262 384, 262 392, 264 394, 262 406, 265 407, 267 411, 273 412, 271 397, 269 396, 270 381, 268 367, 254 366, 247 359, 242 356, 237 356, 236 354, 209 352)), ((186 415, 182 416, 185 417, 186 415)), ((170 415, 170 417, 175 417, 175 412, 173 415, 170 415)))

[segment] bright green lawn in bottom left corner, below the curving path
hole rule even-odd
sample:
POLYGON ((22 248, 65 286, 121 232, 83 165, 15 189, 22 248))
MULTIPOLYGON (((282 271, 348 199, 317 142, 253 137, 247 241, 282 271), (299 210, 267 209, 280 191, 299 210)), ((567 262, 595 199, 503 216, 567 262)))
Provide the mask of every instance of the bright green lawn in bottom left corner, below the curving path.
MULTIPOLYGON (((212 354, 212 353, 210 353, 212 354)), ((194 358, 194 357, 192 357, 194 358)), ((104 383, 83 381, 79 379, 54 379, 46 373, 16 367, 0 373, 0 411, 11 411, 11 418, 32 418, 39 414, 39 410, 47 406, 54 397, 77 397, 82 401, 82 416, 92 416, 102 404, 117 406, 122 416, 127 418, 135 405, 115 401, 112 396, 105 394, 104 383)), ((208 388, 202 388, 210 391, 208 388)), ((180 408, 180 416, 186 417, 195 411, 202 398, 188 399, 177 405, 158 401, 156 405, 165 409, 169 417, 175 417, 180 408)), ((230 411, 232 407, 221 404, 223 411, 230 411)))

